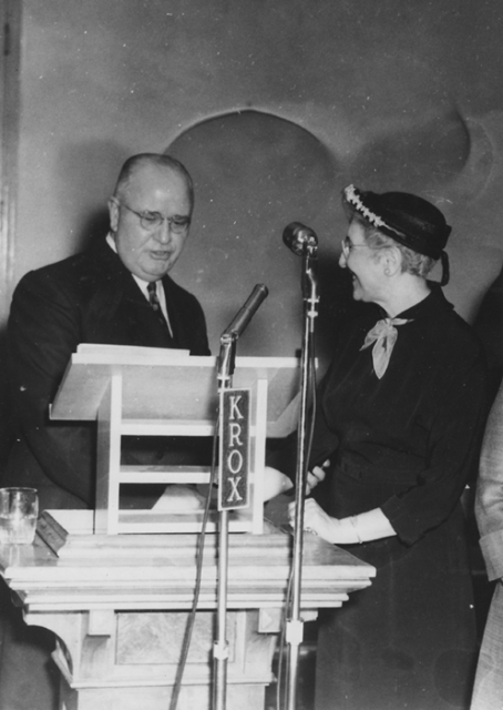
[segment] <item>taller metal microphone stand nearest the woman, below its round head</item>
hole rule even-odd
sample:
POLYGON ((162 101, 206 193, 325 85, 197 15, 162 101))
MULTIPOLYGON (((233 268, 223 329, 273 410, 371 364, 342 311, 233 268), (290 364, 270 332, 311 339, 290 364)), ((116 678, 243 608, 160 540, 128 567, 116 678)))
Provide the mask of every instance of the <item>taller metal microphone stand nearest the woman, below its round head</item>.
POLYGON ((300 595, 302 580, 302 544, 304 544, 304 503, 307 484, 307 423, 309 396, 309 368, 312 361, 312 338, 315 334, 315 318, 318 315, 319 296, 317 281, 314 273, 317 245, 304 244, 302 247, 302 298, 304 298, 304 333, 301 352, 300 382, 300 415, 297 439, 297 468, 295 489, 295 521, 294 521, 294 554, 292 554, 292 585, 291 585, 291 617, 286 625, 286 641, 288 643, 287 666, 287 708, 295 710, 298 684, 299 647, 304 639, 304 621, 300 618, 300 595))

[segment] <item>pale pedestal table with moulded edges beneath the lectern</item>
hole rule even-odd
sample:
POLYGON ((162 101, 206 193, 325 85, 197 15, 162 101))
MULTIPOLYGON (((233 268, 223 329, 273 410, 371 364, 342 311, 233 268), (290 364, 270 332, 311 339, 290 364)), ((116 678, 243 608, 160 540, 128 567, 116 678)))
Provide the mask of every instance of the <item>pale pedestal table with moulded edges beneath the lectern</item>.
MULTIPOLYGON (((89 511, 51 513, 66 532, 54 537, 45 527, 33 546, 0 547, 0 572, 25 622, 57 637, 61 710, 167 710, 193 605, 198 536, 92 535, 89 511)), ((217 556, 216 536, 208 536, 177 710, 212 707, 217 556)), ((227 707, 258 710, 274 680, 291 536, 273 527, 232 534, 228 557, 227 707)), ((373 575, 370 565, 306 534, 304 619, 341 606, 373 575)))

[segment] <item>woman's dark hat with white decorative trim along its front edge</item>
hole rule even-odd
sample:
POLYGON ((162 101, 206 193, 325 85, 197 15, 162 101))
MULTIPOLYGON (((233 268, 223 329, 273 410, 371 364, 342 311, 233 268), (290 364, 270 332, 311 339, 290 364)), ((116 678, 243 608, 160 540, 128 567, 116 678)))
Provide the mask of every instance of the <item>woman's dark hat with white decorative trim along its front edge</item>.
POLYGON ((342 191, 343 200, 367 222, 409 248, 440 258, 451 233, 438 207, 407 192, 362 192, 355 185, 342 191))

